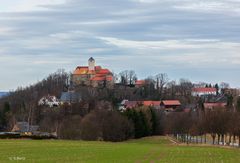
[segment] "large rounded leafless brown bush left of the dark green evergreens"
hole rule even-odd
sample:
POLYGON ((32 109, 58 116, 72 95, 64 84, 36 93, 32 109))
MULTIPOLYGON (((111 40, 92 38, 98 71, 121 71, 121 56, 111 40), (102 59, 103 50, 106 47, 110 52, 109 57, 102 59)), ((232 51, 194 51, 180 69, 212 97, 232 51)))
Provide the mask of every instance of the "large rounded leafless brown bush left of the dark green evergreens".
POLYGON ((84 140, 123 141, 133 135, 132 123, 116 111, 95 110, 81 123, 84 140))

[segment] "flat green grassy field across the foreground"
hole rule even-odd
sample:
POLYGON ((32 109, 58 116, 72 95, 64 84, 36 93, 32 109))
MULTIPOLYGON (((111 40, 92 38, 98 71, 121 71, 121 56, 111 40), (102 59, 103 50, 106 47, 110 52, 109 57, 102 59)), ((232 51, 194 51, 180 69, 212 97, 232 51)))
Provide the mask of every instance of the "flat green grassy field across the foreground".
POLYGON ((166 137, 123 143, 0 140, 0 162, 240 162, 240 150, 174 145, 166 137))

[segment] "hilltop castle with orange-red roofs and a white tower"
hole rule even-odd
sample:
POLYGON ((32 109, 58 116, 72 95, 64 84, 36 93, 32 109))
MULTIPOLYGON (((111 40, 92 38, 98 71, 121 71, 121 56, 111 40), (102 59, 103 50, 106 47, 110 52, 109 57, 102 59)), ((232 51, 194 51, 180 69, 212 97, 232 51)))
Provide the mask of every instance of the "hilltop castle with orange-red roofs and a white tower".
POLYGON ((95 60, 91 57, 88 66, 78 66, 72 75, 74 85, 92 87, 113 87, 113 73, 101 66, 95 66, 95 60))

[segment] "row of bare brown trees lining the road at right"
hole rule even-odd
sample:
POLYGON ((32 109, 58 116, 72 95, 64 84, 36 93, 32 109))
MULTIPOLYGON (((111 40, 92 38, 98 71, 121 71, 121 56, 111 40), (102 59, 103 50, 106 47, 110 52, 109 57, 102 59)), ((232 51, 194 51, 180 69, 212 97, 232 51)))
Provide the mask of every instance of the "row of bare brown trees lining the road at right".
POLYGON ((194 113, 173 113, 166 117, 166 134, 173 135, 185 143, 211 143, 240 147, 240 112, 215 108, 212 111, 194 113))

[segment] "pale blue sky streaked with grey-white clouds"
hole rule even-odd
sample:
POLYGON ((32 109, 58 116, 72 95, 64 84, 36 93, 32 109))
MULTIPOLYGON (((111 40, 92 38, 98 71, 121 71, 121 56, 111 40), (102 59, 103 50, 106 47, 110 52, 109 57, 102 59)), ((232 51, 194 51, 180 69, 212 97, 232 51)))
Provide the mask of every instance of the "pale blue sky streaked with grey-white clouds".
POLYGON ((240 0, 0 0, 0 91, 89 57, 138 78, 240 87, 240 0))

